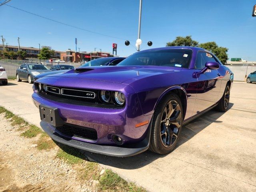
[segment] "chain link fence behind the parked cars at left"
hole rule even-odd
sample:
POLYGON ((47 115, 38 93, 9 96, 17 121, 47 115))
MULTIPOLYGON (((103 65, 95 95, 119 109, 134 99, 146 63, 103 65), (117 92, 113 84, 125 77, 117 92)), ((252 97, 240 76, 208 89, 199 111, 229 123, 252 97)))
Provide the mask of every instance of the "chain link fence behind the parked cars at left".
POLYGON ((82 64, 80 63, 72 63, 72 62, 49 62, 46 60, 0 60, 0 66, 5 68, 8 78, 16 78, 16 69, 20 67, 24 62, 35 62, 42 63, 47 68, 51 68, 54 65, 70 65, 75 68, 80 67, 82 64))

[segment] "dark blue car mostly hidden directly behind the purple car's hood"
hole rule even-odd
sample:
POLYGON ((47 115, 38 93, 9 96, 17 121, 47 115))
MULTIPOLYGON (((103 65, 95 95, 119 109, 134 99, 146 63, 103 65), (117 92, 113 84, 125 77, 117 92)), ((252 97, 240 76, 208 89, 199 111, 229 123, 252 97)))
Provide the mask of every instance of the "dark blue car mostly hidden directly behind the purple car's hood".
POLYGON ((86 62, 81 67, 90 67, 90 66, 114 66, 124 60, 124 57, 106 57, 106 58, 98 58, 91 61, 86 62))

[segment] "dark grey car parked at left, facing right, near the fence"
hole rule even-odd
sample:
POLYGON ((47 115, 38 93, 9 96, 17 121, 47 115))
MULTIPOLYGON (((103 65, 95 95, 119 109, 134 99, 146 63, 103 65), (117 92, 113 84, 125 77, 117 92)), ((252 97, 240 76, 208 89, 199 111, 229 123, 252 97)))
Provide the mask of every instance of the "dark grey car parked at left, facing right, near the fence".
POLYGON ((26 62, 16 70, 16 80, 18 82, 25 80, 33 83, 34 76, 46 72, 49 72, 49 69, 41 63, 26 62))

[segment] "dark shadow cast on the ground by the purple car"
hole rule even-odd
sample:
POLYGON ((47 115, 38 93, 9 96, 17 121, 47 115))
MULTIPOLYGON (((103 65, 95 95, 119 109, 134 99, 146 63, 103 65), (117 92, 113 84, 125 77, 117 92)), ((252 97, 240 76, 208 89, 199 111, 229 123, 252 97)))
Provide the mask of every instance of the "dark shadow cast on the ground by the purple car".
MULTIPOLYGON (((233 105, 234 105, 233 103, 230 103, 229 109, 232 108, 233 105)), ((217 119, 220 116, 222 116, 223 114, 224 114, 223 112, 216 112, 214 110, 210 110, 207 113, 200 116, 199 118, 196 118, 192 122, 184 125, 182 127, 182 131, 180 133, 180 139, 178 141, 176 148, 178 148, 183 143, 190 140, 192 137, 194 137, 196 134, 198 134, 204 128, 209 126, 211 123, 213 123, 213 122, 221 123, 222 121, 218 121, 217 119)), ((59 145, 59 146, 65 152, 70 153, 70 150, 65 150, 65 147, 63 147, 61 145, 59 145)), ((176 150, 176 148, 174 150, 176 150)), ((76 151, 76 150, 77 149, 74 149, 74 151, 76 151)), ((141 168, 141 167, 144 167, 144 166, 150 164, 151 162, 153 162, 154 160, 156 160, 158 158, 163 158, 168 155, 168 154, 159 155, 159 154, 156 154, 156 153, 153 153, 153 152, 147 150, 146 152, 143 152, 136 156, 120 158, 120 157, 106 156, 106 155, 102 155, 102 154, 95 154, 95 153, 91 153, 91 152, 83 151, 83 150, 80 150, 80 151, 82 151, 82 153, 85 155, 83 157, 83 159, 87 159, 86 158, 86 156, 87 156, 88 158, 91 158, 100 164, 104 164, 104 165, 108 165, 108 166, 112 166, 112 167, 116 167, 116 168, 121 168, 121 169, 141 168)), ((73 155, 75 155, 75 154, 73 154, 73 155)), ((79 155, 79 157, 81 157, 81 156, 79 155)))

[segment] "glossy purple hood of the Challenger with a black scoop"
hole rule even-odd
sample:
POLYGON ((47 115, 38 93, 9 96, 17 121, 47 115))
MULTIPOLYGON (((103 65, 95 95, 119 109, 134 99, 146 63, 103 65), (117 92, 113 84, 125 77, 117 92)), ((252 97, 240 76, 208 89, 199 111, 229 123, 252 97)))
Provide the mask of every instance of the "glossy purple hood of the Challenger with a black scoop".
POLYGON ((55 77, 82 78, 115 83, 125 83, 128 80, 138 80, 147 76, 180 71, 182 68, 160 67, 160 66, 100 66, 78 68, 64 74, 54 74, 55 77), (84 70, 84 72, 78 72, 84 70))

